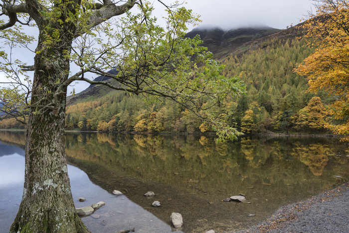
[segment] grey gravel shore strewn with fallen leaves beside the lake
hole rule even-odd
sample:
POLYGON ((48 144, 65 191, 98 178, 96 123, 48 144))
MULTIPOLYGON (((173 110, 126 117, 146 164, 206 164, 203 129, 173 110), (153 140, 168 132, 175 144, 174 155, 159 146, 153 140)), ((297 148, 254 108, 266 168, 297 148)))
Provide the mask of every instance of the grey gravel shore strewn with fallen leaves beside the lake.
POLYGON ((349 182, 279 208, 265 222, 240 233, 349 233, 349 182))

